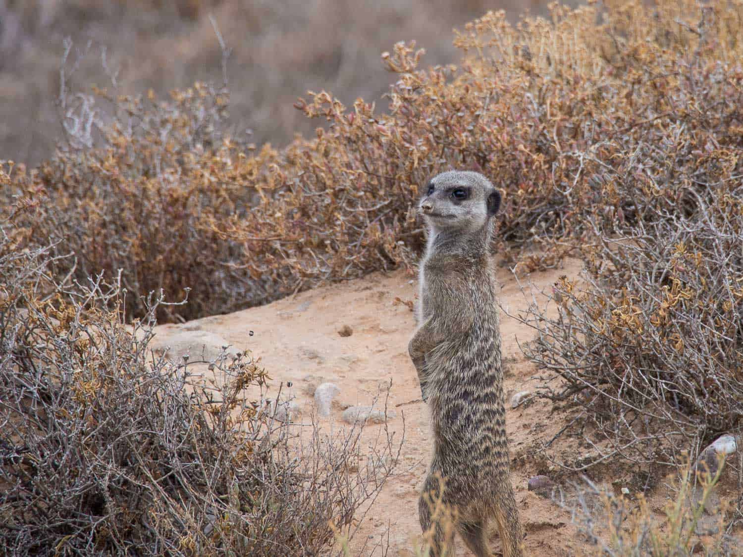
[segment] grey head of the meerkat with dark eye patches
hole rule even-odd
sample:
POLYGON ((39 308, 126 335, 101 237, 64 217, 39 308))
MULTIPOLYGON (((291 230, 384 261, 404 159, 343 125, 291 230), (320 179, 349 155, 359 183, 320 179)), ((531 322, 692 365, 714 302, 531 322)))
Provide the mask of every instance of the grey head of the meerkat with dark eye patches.
POLYGON ((418 208, 435 233, 475 232, 496 215, 500 204, 500 193, 486 177, 452 170, 426 183, 418 208))

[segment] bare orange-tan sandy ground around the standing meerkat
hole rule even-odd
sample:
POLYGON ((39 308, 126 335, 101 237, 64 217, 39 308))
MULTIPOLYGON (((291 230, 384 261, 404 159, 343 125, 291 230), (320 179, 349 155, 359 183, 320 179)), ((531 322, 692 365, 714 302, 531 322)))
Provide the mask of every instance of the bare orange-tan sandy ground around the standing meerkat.
MULTIPOLYGON (((561 275, 577 276, 580 267, 580 261, 567 261, 562 269, 532 273, 528 282, 539 300, 540 291, 554 284, 561 275)), ((506 267, 499 267, 497 278, 502 287, 502 307, 508 313, 518 313, 525 308, 528 299, 513 273, 506 267)), ((522 281, 522 284, 526 283, 522 281)), ((276 396, 279 383, 284 382, 282 394, 295 397, 302 411, 296 420, 302 423, 311 423, 315 411, 312 393, 321 382, 334 382, 340 388, 340 394, 334 400, 331 415, 316 416, 314 420, 321 425, 329 423, 334 427, 350 427, 341 419, 343 408, 370 405, 380 394, 380 388, 392 380, 387 404, 396 415, 387 425, 399 438, 404 417, 405 440, 395 472, 351 540, 351 554, 354 556, 413 556, 413 548, 421 533, 418 492, 426 475, 432 438, 426 405, 420 402, 418 377, 407 354, 415 320, 409 306, 400 303, 400 300, 412 302, 415 292, 415 276, 411 273, 376 273, 360 280, 299 293, 263 307, 157 328, 155 342, 158 345, 175 342, 177 335, 187 330, 215 333, 238 350, 250 349, 255 356, 261 357, 272 379, 273 390, 268 395, 276 396), (338 333, 344 326, 351 328, 350 336, 338 333), (253 336, 250 336, 251 330, 253 336), (291 382, 290 388, 286 387, 287 382, 291 382)), ((571 524, 568 511, 550 498, 527 489, 528 480, 533 475, 560 477, 559 466, 554 466, 539 447, 553 440, 570 416, 565 411, 555 413, 552 403, 539 399, 511 408, 510 397, 514 393, 533 392, 539 384, 539 380, 533 377, 536 369, 519 349, 519 342, 531 340, 533 331, 504 312, 501 331, 503 358, 507 362, 504 386, 511 481, 526 532, 527 555, 580 556, 595 553, 597 548, 571 524)), ((368 423, 363 436, 371 440, 382 427, 368 423)), ((576 437, 559 437, 551 447, 552 456, 563 461, 579 457, 580 440, 576 437)), ((605 473, 603 478, 592 479, 600 485, 609 485, 617 478, 619 476, 605 473)), ((574 475, 569 479, 579 481, 580 477, 574 475)), ((568 483, 567 479, 563 482, 564 486, 568 483)), ((656 510, 661 510, 666 500, 667 490, 661 491, 653 495, 652 506, 656 510)), ((497 538, 494 538, 494 544, 499 547, 497 538)), ((460 541, 457 556, 468 555, 470 553, 460 541)))

